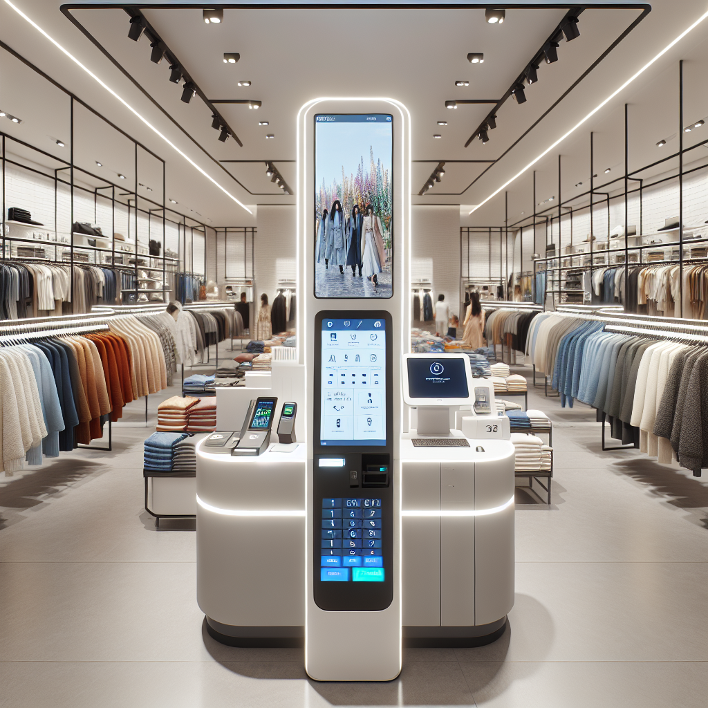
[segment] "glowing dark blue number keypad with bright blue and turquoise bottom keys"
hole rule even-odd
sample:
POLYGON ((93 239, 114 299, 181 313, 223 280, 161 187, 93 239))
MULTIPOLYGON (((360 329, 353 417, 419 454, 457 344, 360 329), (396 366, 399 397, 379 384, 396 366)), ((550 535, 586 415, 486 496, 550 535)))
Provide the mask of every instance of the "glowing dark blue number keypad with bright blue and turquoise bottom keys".
POLYGON ((380 498, 322 500, 320 580, 383 583, 380 498))

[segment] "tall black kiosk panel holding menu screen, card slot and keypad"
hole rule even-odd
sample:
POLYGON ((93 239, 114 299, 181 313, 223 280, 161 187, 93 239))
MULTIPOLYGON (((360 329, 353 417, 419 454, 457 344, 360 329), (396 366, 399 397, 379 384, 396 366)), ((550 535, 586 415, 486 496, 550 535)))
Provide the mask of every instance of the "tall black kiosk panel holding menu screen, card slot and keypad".
POLYGON ((315 328, 314 600, 384 610, 394 572, 392 319, 320 312, 315 328))

